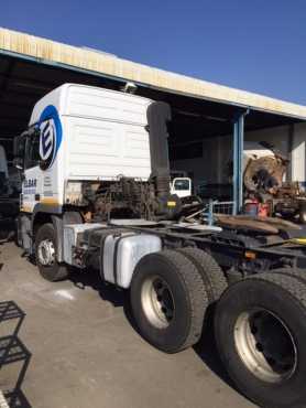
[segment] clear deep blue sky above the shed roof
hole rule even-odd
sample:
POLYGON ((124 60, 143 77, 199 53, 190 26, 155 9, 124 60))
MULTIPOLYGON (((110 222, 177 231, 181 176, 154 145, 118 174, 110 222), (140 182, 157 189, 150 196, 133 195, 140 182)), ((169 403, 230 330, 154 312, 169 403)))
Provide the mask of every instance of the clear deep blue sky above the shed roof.
POLYGON ((306 105, 305 0, 3 0, 0 26, 306 105))

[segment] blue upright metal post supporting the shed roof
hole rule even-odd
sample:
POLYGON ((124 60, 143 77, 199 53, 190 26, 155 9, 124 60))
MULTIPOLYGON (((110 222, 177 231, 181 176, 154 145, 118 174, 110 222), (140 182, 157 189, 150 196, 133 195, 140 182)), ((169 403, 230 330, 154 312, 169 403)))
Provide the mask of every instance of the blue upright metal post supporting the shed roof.
POLYGON ((240 114, 233 122, 233 215, 239 214, 243 205, 243 139, 245 115, 247 112, 240 114))

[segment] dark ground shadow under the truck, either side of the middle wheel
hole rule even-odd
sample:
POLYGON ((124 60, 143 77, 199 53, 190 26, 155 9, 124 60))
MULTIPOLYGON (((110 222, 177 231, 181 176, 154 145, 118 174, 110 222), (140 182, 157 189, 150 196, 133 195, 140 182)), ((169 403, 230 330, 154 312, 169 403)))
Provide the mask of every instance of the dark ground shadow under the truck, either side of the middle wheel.
MULTIPOLYGON (((134 322, 131 311, 129 291, 119 290, 112 284, 107 284, 102 282, 98 272, 95 270, 88 271, 76 270, 73 273, 70 273, 69 279, 80 290, 84 290, 86 287, 90 287, 99 293, 102 300, 111 302, 112 305, 116 308, 117 307, 123 308, 123 312, 129 323, 139 333, 138 326, 134 322)), ((205 365, 207 365, 216 375, 218 375, 218 377, 220 377, 230 387, 236 389, 218 356, 218 351, 214 337, 212 311, 209 312, 209 318, 205 322, 204 334, 201 336, 200 342, 194 346, 194 351, 204 362, 205 365)))

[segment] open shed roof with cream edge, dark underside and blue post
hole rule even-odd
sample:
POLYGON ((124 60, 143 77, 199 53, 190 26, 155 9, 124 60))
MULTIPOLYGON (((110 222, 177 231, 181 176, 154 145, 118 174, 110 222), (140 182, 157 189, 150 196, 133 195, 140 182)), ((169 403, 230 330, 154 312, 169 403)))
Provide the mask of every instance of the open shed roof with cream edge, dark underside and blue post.
POLYGON ((0 143, 9 160, 12 138, 26 128, 34 104, 46 93, 65 83, 119 90, 128 80, 136 84, 138 95, 171 105, 171 144, 233 135, 237 208, 242 203, 244 131, 306 120, 304 106, 0 29, 0 143))

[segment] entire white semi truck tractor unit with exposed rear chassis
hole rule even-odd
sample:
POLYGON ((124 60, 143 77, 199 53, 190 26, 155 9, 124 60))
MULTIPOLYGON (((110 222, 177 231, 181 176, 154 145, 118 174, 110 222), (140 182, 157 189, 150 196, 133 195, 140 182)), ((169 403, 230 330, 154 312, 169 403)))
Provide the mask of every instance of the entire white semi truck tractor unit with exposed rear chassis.
POLYGON ((247 397, 303 407, 304 232, 267 217, 182 221, 170 191, 170 120, 165 103, 85 85, 39 100, 15 140, 19 244, 50 281, 92 269, 129 289, 139 332, 161 351, 193 346, 212 321, 247 397))

